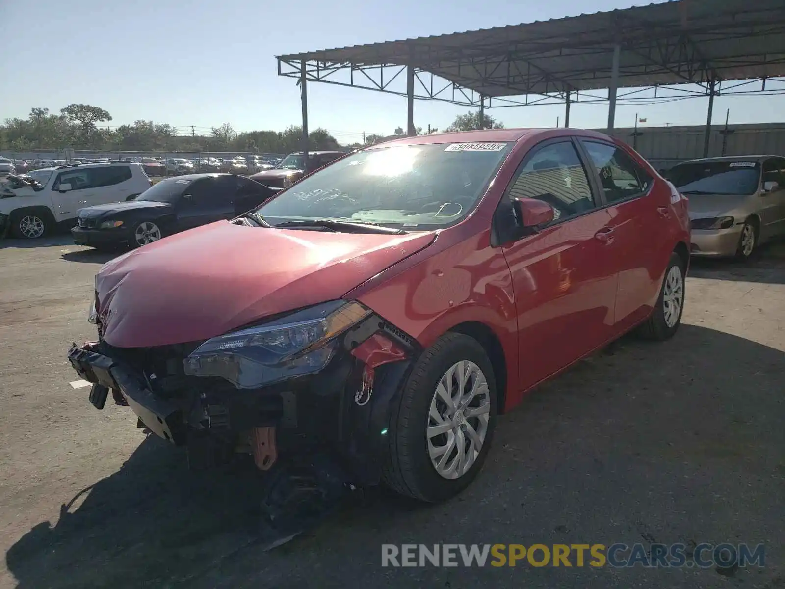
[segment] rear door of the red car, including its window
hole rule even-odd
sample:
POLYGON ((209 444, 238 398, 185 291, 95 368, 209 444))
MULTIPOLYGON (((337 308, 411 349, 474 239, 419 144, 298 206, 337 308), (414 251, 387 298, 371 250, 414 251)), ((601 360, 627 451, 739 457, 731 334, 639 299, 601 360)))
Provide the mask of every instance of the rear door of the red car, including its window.
POLYGON ((582 139, 594 181, 608 205, 609 252, 619 264, 615 331, 643 320, 659 297, 662 274, 674 244, 670 236, 670 191, 653 190, 655 182, 624 148, 608 141, 582 139))

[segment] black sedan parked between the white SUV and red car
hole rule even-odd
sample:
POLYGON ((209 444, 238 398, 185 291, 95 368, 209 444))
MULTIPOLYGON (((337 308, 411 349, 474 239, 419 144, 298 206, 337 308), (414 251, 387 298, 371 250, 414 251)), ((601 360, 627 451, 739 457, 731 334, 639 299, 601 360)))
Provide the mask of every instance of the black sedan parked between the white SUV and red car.
POLYGON ((188 174, 167 178, 137 198, 79 210, 71 236, 77 245, 143 246, 166 235, 235 218, 275 192, 235 174, 188 174))

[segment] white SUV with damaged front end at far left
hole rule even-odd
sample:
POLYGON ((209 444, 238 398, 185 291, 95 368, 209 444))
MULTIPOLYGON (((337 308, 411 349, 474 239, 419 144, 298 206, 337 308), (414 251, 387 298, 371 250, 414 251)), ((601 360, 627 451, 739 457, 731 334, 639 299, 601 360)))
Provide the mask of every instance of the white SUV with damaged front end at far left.
POLYGON ((72 163, 33 170, 33 184, 0 184, 0 236, 35 239, 55 225, 75 221, 79 209, 130 200, 152 181, 139 163, 72 163))

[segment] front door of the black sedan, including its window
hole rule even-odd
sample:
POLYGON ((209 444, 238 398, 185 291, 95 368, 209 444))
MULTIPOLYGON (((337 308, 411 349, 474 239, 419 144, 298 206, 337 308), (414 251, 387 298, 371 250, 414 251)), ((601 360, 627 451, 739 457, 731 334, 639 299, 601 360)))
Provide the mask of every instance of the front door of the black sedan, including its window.
POLYGON ((195 181, 177 207, 178 229, 192 229, 235 216, 236 176, 209 176, 195 181))

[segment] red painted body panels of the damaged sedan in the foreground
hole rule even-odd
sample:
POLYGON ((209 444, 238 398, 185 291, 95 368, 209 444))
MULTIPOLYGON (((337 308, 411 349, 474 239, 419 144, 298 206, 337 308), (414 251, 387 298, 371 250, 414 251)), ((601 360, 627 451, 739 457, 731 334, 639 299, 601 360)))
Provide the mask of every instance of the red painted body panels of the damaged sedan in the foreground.
MULTIPOLYGON (((500 344, 495 360, 506 365, 510 408, 648 316, 671 252, 689 243, 686 202, 671 203, 663 178, 624 146, 654 178, 648 194, 491 247, 491 219, 521 160, 541 141, 575 135, 608 141, 592 131, 513 129, 378 145, 516 141, 473 213, 447 229, 391 236, 222 222, 118 258, 97 280, 105 337, 123 347, 198 341, 351 298, 425 347, 458 324, 489 332, 500 344)), ((528 221, 546 214, 530 204, 528 221)), ((375 366, 403 352, 377 335, 353 353, 375 366)))

